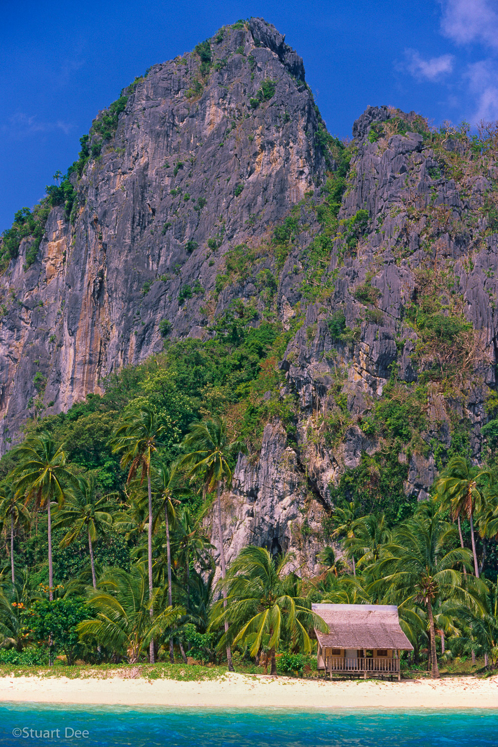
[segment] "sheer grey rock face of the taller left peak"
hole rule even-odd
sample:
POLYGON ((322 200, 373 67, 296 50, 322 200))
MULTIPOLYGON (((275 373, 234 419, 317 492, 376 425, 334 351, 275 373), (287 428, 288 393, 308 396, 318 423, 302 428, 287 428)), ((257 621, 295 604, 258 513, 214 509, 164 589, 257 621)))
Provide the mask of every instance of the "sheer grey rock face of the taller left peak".
POLYGON ((116 133, 76 185, 74 226, 54 209, 37 260, 23 269, 27 239, 4 276, 3 437, 28 415, 36 373, 45 412, 57 412, 161 350, 161 320, 201 335, 226 249, 263 237, 323 178, 313 99, 284 37, 253 19, 211 42, 205 75, 193 53, 128 89, 116 133))

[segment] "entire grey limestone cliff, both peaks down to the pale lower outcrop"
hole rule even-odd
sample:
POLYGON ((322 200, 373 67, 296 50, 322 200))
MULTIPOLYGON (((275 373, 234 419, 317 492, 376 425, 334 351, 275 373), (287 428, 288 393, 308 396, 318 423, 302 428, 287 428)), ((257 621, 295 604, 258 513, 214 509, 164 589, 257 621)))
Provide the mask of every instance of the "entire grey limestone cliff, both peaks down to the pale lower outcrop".
POLYGON ((345 471, 370 496, 395 465, 420 500, 464 428, 482 457, 497 174, 463 135, 369 107, 337 215, 340 164, 302 60, 261 19, 125 94, 115 132, 102 143, 94 128, 71 177, 72 221, 52 209, 36 261, 25 270, 27 238, 2 278, 0 447, 35 409, 67 409, 161 350, 166 332, 202 338, 234 300, 252 304, 293 330, 277 396, 293 398, 295 433, 274 418, 261 451, 240 457, 228 559, 254 542, 316 571, 345 471))

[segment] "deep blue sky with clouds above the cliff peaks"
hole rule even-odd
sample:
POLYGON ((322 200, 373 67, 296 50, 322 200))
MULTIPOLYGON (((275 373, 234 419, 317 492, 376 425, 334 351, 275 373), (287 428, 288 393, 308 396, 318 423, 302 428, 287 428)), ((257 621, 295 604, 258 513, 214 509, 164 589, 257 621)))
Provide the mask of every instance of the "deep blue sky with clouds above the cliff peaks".
POLYGON ((498 119, 498 0, 0 0, 0 231, 75 160, 78 139, 154 63, 262 16, 302 56, 332 134, 368 104, 438 125, 498 119))

